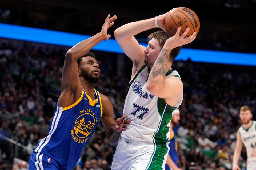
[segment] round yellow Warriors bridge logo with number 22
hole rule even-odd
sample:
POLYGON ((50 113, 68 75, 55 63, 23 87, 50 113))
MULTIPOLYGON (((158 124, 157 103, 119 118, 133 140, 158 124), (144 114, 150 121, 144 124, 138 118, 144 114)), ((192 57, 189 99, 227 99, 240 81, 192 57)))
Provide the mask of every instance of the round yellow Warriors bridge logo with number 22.
POLYGON ((90 109, 87 110, 89 113, 80 115, 75 121, 74 129, 71 130, 71 137, 77 143, 86 142, 95 125, 95 114, 91 113, 90 109))

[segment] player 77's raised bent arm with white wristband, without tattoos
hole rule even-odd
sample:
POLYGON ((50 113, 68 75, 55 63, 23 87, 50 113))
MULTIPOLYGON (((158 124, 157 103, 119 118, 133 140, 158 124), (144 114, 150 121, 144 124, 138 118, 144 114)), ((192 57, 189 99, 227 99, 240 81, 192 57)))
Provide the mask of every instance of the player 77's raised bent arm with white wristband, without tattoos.
MULTIPOLYGON (((157 17, 158 27, 165 30, 164 21, 168 12, 157 17)), ((115 30, 115 39, 122 48, 123 52, 133 61, 132 78, 137 71, 144 65, 144 50, 146 47, 139 45, 134 35, 148 29, 155 28, 154 18, 131 22, 115 30)))

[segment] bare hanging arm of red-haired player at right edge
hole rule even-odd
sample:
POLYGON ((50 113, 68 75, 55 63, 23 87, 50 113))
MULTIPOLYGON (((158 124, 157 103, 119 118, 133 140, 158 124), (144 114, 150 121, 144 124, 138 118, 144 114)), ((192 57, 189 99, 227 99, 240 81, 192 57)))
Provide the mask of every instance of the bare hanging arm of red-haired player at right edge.
POLYGON ((237 131, 237 142, 235 143, 235 152, 233 156, 232 170, 237 170, 237 169, 240 170, 237 163, 241 155, 242 147, 243 147, 243 142, 239 134, 239 131, 237 131))

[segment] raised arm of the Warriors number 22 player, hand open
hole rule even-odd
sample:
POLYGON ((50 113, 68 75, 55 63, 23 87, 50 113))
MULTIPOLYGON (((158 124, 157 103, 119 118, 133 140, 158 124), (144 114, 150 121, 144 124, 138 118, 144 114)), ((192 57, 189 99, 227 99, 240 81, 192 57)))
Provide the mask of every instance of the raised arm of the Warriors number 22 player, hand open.
POLYGON ((110 35, 107 34, 107 29, 114 24, 113 21, 116 18, 116 16, 110 18, 110 15, 108 15, 100 33, 79 42, 67 51, 62 71, 61 96, 58 100, 59 107, 67 107, 75 103, 81 96, 82 87, 78 75, 77 59, 85 55, 102 40, 107 41, 109 39, 110 35), (66 100, 67 98, 69 100, 66 100))

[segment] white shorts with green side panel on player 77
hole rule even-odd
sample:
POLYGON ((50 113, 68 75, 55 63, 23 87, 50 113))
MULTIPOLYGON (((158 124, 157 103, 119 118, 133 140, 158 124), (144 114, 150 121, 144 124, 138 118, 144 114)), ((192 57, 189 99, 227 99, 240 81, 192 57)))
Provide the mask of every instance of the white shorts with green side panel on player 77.
POLYGON ((168 143, 154 144, 149 141, 118 141, 111 170, 158 170, 165 169, 169 152, 168 143))

